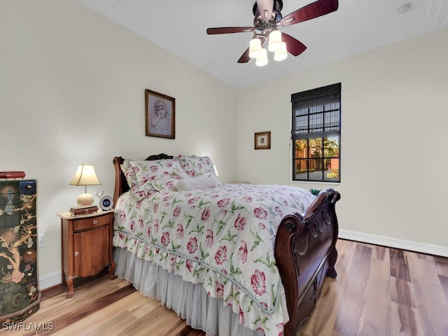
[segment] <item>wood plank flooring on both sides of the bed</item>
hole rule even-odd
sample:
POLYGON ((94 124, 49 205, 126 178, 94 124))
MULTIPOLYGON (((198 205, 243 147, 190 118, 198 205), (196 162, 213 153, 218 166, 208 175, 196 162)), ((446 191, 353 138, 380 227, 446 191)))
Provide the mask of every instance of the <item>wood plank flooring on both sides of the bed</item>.
MULTIPOLYGON (((337 250, 337 279, 325 279, 297 336, 448 336, 448 258, 340 239, 337 250)), ((107 275, 71 299, 63 287, 44 291, 41 309, 16 327, 0 325, 0 335, 205 335, 107 275)))

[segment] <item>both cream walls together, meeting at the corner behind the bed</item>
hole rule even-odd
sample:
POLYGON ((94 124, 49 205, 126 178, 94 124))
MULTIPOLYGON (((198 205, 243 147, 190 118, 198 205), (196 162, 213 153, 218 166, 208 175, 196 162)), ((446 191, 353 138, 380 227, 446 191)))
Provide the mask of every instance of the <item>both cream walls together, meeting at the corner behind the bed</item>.
POLYGON ((115 155, 209 155, 224 182, 336 188, 343 232, 448 246, 447 37, 236 90, 75 1, 0 1, 0 170, 38 179, 41 283, 60 281, 56 214, 83 192, 68 184, 76 167, 95 165, 103 184, 88 191, 111 195, 115 155), (293 183, 290 94, 339 81, 342 183, 293 183), (175 140, 145 137, 146 88, 176 98, 175 140), (272 149, 254 151, 253 133, 268 130, 272 149))

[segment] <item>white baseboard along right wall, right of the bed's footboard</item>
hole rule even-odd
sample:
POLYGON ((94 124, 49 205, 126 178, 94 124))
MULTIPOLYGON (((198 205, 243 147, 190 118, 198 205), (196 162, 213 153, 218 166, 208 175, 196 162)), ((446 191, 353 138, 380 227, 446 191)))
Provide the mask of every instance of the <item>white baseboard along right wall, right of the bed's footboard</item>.
POLYGON ((417 243, 416 241, 408 241, 379 235, 370 235, 350 230, 339 230, 339 238, 360 241, 367 244, 401 248, 402 250, 427 253, 432 255, 440 255, 441 257, 448 257, 447 246, 423 244, 423 243, 417 243))

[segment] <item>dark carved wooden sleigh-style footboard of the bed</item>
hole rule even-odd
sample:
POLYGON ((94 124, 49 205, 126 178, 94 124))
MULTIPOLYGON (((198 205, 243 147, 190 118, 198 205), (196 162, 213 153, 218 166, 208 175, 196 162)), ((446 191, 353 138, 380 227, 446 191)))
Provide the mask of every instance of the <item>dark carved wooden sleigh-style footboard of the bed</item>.
POLYGON ((290 316, 285 336, 296 335, 300 324, 311 316, 325 276, 337 275, 335 203, 339 198, 339 193, 332 189, 320 193, 303 216, 285 216, 277 231, 275 260, 290 316))

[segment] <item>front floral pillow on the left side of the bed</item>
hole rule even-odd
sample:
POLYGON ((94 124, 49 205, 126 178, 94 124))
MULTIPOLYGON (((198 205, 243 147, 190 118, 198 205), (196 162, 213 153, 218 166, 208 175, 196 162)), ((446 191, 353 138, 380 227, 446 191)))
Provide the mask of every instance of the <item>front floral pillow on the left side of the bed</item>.
POLYGON ((137 178, 137 190, 175 190, 177 181, 186 177, 176 159, 131 161, 137 178), (172 181, 172 183, 168 183, 172 181))

